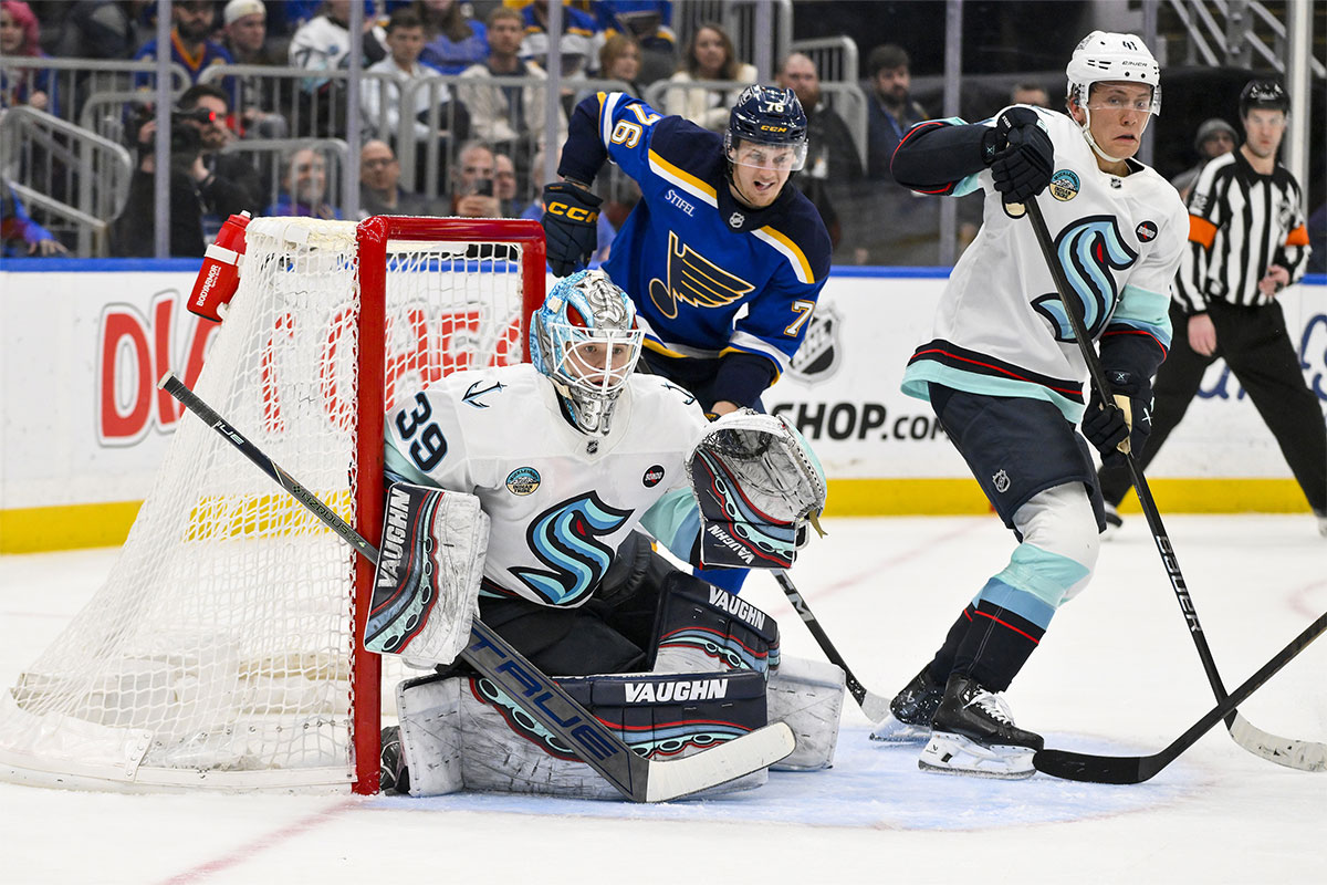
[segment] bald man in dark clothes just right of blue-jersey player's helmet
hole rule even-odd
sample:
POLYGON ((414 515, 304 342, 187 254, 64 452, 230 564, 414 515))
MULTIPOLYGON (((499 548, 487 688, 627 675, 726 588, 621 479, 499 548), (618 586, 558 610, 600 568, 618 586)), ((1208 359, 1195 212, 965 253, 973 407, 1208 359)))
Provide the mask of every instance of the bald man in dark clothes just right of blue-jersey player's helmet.
POLYGON ((820 212, 835 248, 843 239, 843 220, 835 206, 847 206, 852 182, 861 178, 861 158, 852 133, 833 107, 820 103, 820 76, 809 56, 795 52, 783 60, 776 76, 779 85, 791 89, 807 114, 808 155, 802 192, 820 212))

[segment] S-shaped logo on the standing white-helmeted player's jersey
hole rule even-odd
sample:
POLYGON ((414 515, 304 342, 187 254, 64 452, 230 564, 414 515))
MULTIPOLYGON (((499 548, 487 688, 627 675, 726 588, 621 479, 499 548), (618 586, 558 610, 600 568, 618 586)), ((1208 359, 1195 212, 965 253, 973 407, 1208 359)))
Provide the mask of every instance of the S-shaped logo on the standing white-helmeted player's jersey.
MULTIPOLYGON (((1139 253, 1120 236, 1113 216, 1097 215, 1064 228, 1055 240, 1055 257, 1082 305, 1083 325, 1095 338, 1105 328, 1120 297, 1115 272, 1133 267, 1139 253)), ((1056 341, 1074 341, 1074 330, 1058 293, 1035 299, 1032 309, 1050 321, 1056 341)))

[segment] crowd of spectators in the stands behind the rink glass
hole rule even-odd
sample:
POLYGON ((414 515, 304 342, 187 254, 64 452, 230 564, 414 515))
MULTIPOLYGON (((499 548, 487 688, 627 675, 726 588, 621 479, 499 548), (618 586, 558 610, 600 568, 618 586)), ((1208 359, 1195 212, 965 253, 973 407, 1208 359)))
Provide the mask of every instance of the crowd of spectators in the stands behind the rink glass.
MULTIPOLYGON (((170 56, 187 78, 176 84, 171 118, 173 255, 202 255, 222 220, 239 208, 340 218, 341 175, 352 150, 360 154, 360 218, 537 212, 548 129, 541 84, 549 65, 549 0, 356 1, 364 3, 357 34, 349 31, 352 0, 171 4, 170 56), (348 145, 345 72, 353 42, 364 74, 360 138, 348 145)), ((153 60, 155 9, 150 0, 0 0, 0 107, 25 105, 81 123, 77 114, 88 90, 78 84, 88 74, 65 77, 69 72, 42 68, 44 60, 153 60)), ((561 12, 555 158, 571 109, 588 92, 604 88, 602 81, 640 98, 650 89, 656 110, 713 131, 726 127, 736 92, 756 81, 751 60, 739 57, 721 24, 693 24, 679 41, 670 3, 564 0, 561 12)), ((852 81, 865 101, 864 142, 853 138, 844 117, 851 103, 840 101, 843 93, 823 89, 816 60, 794 52, 774 61, 772 80, 796 92, 808 117, 809 157, 795 186, 821 212, 835 261, 938 263, 941 202, 917 199, 894 184, 889 170, 909 126, 937 110, 914 98, 906 49, 872 48, 864 57, 864 78, 852 81)), ((127 203, 110 224, 114 255, 154 251, 153 227, 143 223, 154 216, 153 82, 146 69, 134 73, 129 88, 139 90, 141 100, 111 121, 134 158, 127 203)), ((1018 82, 1009 100, 1058 106, 1051 96, 1043 84, 1018 82)), ((1209 147, 1233 147, 1229 126, 1216 126, 1220 122, 1209 121, 1198 134, 1200 165, 1209 147)), ((11 178, 21 174, 12 162, 0 171, 11 178)), ((612 226, 625 219, 638 191, 616 170, 601 176, 597 188, 609 226, 609 235, 600 235, 602 244, 612 240, 612 226)), ((975 202, 958 203, 962 247, 981 218, 975 202)), ((25 224, 44 230, 12 188, 5 188, 0 206, 5 231, 25 224)), ((48 232, 41 241, 58 245, 58 234, 48 232)), ((31 249, 32 240, 8 234, 5 243, 8 253, 54 252, 54 245, 31 249)))

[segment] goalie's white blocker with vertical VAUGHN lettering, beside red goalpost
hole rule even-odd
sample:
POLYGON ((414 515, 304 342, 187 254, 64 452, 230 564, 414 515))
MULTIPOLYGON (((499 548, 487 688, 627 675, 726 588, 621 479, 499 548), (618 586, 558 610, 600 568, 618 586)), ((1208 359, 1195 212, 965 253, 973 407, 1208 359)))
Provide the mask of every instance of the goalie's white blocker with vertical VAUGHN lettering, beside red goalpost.
POLYGON ((487 552, 488 515, 478 498, 391 486, 364 647, 411 666, 451 663, 470 640, 487 552))

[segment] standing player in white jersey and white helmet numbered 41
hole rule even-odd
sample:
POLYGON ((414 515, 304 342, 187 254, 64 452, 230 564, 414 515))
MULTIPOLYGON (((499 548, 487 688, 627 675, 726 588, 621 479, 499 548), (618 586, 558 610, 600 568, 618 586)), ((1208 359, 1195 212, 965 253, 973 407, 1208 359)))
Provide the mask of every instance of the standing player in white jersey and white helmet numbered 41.
POLYGON ((1059 606, 1091 580, 1101 494, 1091 451, 1121 456, 1148 433, 1152 377, 1170 342, 1170 280, 1188 219, 1176 190, 1133 159, 1160 113, 1160 68, 1133 34, 1092 32, 1067 68, 1068 114, 1011 106, 928 121, 904 137, 894 178, 924 194, 983 191, 983 223, 917 348, 904 393, 928 399, 1018 547, 893 699, 880 740, 925 739, 924 770, 1023 778, 1042 738, 1005 691, 1059 606), (1036 199, 1056 260, 1123 409, 1084 407, 1087 368, 1022 203, 1036 199))

